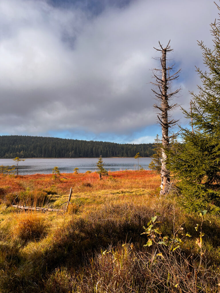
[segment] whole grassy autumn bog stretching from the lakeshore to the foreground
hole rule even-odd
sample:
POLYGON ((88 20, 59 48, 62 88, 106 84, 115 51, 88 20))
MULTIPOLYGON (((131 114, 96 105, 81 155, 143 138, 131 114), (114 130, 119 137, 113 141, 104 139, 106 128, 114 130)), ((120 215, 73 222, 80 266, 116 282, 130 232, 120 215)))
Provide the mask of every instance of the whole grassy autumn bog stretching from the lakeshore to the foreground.
POLYGON ((0 292, 219 292, 219 216, 159 185, 151 171, 1 175, 0 292), (62 209, 70 187, 67 213, 11 207, 62 209))

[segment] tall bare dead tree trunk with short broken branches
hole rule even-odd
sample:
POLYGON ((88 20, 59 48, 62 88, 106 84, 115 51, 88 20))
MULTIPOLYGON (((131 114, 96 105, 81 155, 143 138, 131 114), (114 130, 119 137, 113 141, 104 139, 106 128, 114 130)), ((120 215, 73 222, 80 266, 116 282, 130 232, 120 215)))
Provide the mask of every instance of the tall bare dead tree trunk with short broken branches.
MULTIPOLYGON (((163 48, 160 44, 160 48, 154 48, 161 52, 161 57, 158 58, 161 63, 161 69, 153 69, 153 77, 156 79, 154 84, 156 87, 152 89, 155 94, 155 98, 160 101, 160 105, 155 104, 154 107, 159 110, 158 119, 162 129, 162 166, 161 166, 161 185, 160 185, 160 195, 166 194, 170 188, 170 171, 167 170, 167 151, 169 150, 170 138, 174 137, 175 134, 169 136, 169 128, 174 126, 178 120, 170 118, 170 110, 174 108, 177 104, 170 104, 170 100, 180 91, 178 88, 175 91, 171 90, 171 81, 178 79, 180 69, 173 73, 175 64, 167 67, 167 52, 173 51, 170 48, 170 41, 167 46, 163 48)), ((155 58, 157 59, 157 58, 155 58)))

